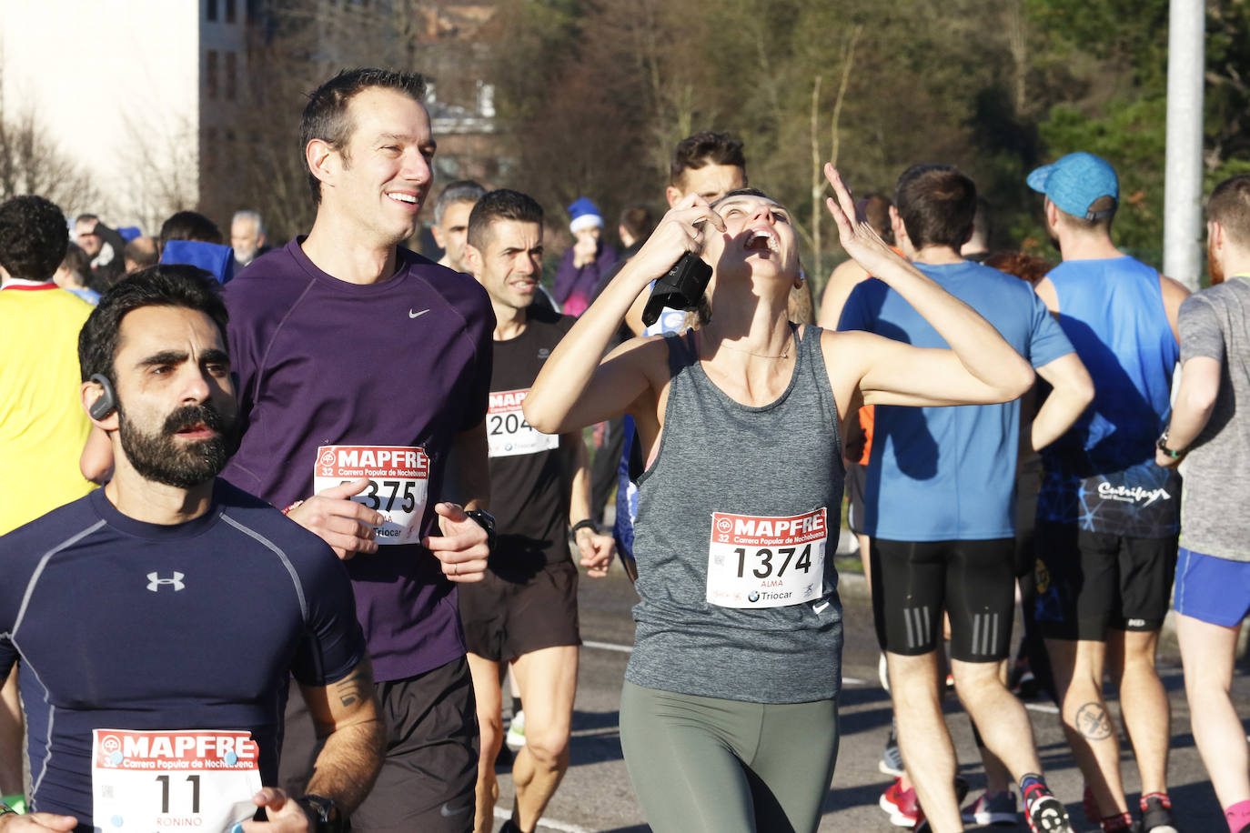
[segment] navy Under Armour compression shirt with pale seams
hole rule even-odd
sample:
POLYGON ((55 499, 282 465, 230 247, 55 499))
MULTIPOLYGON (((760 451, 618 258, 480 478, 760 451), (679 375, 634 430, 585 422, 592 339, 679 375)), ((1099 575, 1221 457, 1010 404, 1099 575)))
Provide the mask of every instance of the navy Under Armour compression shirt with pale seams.
POLYGON ((31 807, 91 831, 92 729, 230 729, 276 783, 289 674, 361 662, 346 571, 315 535, 218 481, 175 526, 105 490, 0 537, 0 669, 19 663, 31 807))

